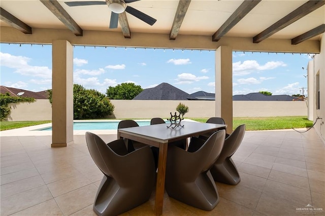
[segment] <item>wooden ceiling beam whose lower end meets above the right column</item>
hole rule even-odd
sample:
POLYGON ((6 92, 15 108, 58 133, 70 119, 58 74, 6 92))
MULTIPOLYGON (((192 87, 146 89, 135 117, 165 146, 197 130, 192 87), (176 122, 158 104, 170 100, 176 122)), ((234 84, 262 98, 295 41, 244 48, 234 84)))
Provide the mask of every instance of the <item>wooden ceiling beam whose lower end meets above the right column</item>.
POLYGON ((221 27, 212 35, 212 41, 219 41, 221 37, 232 29, 262 0, 245 0, 236 11, 226 20, 221 27))

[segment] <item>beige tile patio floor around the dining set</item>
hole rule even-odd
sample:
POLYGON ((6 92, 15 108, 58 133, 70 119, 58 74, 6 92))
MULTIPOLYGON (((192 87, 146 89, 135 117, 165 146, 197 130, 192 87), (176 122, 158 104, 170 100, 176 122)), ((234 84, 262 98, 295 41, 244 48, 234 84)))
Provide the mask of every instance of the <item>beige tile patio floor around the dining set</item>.
MULTIPOLYGON (((92 203, 103 174, 84 135, 75 135, 67 148, 50 148, 49 135, 0 138, 1 215, 95 215, 92 203)), ((163 215, 325 215, 325 147, 314 129, 246 131, 233 159, 241 182, 216 183, 220 202, 212 211, 165 193, 163 215), (307 204, 323 211, 296 210, 307 204)), ((153 209, 154 192, 123 215, 153 215, 153 209)))

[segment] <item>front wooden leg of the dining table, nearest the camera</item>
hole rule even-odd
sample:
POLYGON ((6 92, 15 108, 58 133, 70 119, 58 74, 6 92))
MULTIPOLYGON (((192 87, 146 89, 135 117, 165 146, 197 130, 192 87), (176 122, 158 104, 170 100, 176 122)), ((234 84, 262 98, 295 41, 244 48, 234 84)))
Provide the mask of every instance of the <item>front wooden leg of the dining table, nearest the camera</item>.
POLYGON ((156 183, 156 197, 154 203, 154 212, 156 215, 163 214, 167 147, 168 143, 159 143, 158 173, 156 183))

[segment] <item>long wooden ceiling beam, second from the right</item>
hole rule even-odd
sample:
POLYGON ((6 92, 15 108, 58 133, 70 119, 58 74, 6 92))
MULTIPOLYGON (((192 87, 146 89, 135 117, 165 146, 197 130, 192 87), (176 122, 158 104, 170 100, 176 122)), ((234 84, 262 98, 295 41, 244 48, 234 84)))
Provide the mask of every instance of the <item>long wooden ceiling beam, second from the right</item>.
POLYGON ((293 12, 289 13, 261 33, 257 34, 253 38, 253 43, 259 43, 267 38, 269 38, 271 35, 274 33, 278 32, 279 30, 285 28, 286 26, 296 22, 300 18, 306 16, 307 14, 315 11, 316 9, 322 7, 325 5, 325 0, 320 0, 320 1, 315 1, 315 0, 310 0, 294 10, 293 12))

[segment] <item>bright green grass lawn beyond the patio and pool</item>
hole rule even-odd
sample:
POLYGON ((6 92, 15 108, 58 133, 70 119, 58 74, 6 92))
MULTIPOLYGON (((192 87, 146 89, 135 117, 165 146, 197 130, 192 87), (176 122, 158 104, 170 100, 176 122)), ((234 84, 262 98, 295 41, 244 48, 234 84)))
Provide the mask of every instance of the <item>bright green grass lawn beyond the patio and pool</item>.
MULTIPOLYGON (((206 122, 208 118, 189 118, 198 122, 206 122)), ((1 130, 10 130, 15 128, 27 127, 32 125, 39 125, 50 123, 51 121, 25 121, 25 122, 1 122, 1 130)), ((294 117, 246 117, 234 118, 233 129, 241 124, 246 124, 246 130, 276 130, 289 128, 305 128, 311 127, 313 122, 309 121, 306 116, 294 117)))

